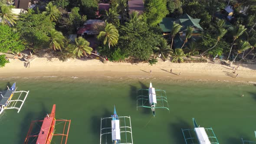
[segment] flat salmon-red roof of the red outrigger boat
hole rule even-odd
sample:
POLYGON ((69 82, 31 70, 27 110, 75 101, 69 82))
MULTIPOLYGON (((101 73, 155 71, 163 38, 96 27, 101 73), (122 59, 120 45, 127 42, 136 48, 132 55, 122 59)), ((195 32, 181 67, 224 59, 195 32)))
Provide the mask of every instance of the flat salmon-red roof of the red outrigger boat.
POLYGON ((40 130, 40 133, 38 135, 36 144, 46 144, 46 140, 51 128, 52 121, 53 121, 53 117, 49 117, 49 118, 46 117, 43 119, 43 124, 40 130))

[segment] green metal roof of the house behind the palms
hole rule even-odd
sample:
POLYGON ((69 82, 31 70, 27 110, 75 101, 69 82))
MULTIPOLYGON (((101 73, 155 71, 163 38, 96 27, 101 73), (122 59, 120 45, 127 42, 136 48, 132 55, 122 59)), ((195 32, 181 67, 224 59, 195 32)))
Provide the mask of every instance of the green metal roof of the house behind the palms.
POLYGON ((180 32, 186 30, 187 26, 193 26, 203 31, 203 28, 199 24, 200 19, 193 19, 191 16, 187 14, 180 16, 176 20, 174 20, 174 18, 168 18, 168 17, 163 18, 161 23, 159 23, 159 26, 164 32, 171 32, 171 28, 173 26, 174 21, 176 23, 179 23, 182 26, 180 32))

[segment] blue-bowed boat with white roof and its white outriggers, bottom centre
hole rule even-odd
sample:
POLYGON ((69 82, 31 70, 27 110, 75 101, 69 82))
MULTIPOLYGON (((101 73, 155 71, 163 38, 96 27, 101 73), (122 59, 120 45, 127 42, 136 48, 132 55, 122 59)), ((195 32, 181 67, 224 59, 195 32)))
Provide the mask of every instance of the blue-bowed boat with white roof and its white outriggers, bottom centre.
MULTIPOLYGON (((104 122, 103 122, 104 124, 104 122)), ((102 118, 101 119, 101 134, 100 134, 100 144, 108 144, 110 140, 108 140, 107 135, 112 134, 112 144, 133 144, 132 140, 132 132, 131 132, 131 118, 130 116, 123 116, 123 117, 118 117, 115 106, 114 106, 114 114, 111 115, 109 118, 102 118), (122 122, 124 122, 123 127, 120 127, 120 120, 122 119, 122 122), (108 120, 111 119, 111 128, 107 127, 108 120), (105 121, 105 127, 102 126, 102 120, 105 121), (126 121, 129 121, 129 126, 127 126, 126 121), (121 128, 123 128, 124 131, 121 131, 121 128), (110 131, 111 129, 111 131, 110 131), (121 142, 121 133, 125 133, 125 137, 122 138, 121 142), (128 138, 129 134, 131 135, 130 138, 128 138), (102 139, 102 136, 105 135, 105 139, 102 139)))

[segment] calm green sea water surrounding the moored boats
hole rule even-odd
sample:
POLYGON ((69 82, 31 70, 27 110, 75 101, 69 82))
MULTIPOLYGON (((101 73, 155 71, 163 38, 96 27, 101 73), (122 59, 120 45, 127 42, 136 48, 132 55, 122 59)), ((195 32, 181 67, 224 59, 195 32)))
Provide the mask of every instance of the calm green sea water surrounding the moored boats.
POLYGON ((23 144, 30 122, 50 113, 53 104, 56 118, 71 119, 68 144, 99 144, 100 119, 109 117, 114 105, 118 116, 131 116, 135 144, 185 144, 181 128, 193 128, 192 118, 201 127, 212 127, 220 144, 241 144, 241 137, 256 141, 252 84, 38 77, 0 79, 0 90, 14 81, 18 90, 30 93, 19 114, 6 110, 0 115, 1 144, 23 144), (136 111, 136 90, 147 88, 150 81, 166 91, 170 108, 170 112, 157 109, 155 118, 150 109, 136 111))

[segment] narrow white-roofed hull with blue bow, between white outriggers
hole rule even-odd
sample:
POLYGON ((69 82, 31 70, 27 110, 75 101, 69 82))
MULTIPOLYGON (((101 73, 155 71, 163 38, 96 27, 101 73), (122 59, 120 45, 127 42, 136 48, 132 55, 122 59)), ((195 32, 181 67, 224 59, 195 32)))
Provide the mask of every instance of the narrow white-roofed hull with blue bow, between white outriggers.
POLYGON ((111 115, 112 121, 112 141, 113 144, 120 144, 121 136, 120 136, 120 121, 118 119, 118 115, 114 106, 114 115, 111 115))

